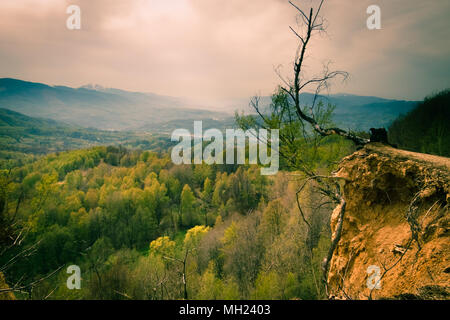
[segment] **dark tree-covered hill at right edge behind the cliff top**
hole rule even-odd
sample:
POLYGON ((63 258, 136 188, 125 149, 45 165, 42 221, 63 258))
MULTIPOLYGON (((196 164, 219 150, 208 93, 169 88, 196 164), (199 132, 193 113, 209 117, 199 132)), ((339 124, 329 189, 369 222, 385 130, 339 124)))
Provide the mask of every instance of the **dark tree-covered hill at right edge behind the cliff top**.
POLYGON ((426 98, 389 128, 399 148, 450 157, 450 90, 426 98))

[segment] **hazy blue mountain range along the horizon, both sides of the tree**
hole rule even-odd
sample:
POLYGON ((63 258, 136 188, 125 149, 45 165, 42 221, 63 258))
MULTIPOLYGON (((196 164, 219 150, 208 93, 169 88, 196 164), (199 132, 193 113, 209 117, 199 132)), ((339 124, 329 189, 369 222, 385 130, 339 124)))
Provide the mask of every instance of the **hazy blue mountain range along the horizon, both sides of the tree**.
MULTIPOLYGON (((312 99, 312 94, 302 94, 305 104, 312 99)), ((336 105, 333 120, 337 125, 364 131, 370 127, 388 127, 399 115, 417 105, 415 101, 349 94, 321 96, 320 99, 336 105)), ((194 120, 202 120, 206 124, 204 128, 229 127, 233 125, 235 111, 253 112, 248 107, 249 100, 230 99, 217 106, 208 106, 184 98, 99 85, 71 88, 0 79, 0 108, 101 130, 170 133, 175 128, 192 127, 194 120)), ((267 108, 270 97, 262 97, 261 103, 267 108)))

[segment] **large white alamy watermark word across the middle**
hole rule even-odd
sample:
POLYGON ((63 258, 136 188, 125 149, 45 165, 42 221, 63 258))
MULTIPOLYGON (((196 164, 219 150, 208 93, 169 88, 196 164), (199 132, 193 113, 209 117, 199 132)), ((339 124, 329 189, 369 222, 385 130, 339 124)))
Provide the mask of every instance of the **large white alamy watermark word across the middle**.
POLYGON ((248 141, 248 164, 262 164, 262 175, 274 175, 279 168, 279 130, 227 129, 224 136, 218 129, 203 132, 202 121, 194 121, 194 134, 187 129, 176 129, 172 141, 179 143, 172 149, 172 162, 180 164, 246 164, 248 141), (270 133, 270 138, 269 138, 270 133), (193 140, 193 141, 192 141, 193 140), (210 142, 203 150, 203 143, 210 142), (269 148, 270 144, 270 148, 269 148), (270 151, 270 155, 269 155, 270 151))

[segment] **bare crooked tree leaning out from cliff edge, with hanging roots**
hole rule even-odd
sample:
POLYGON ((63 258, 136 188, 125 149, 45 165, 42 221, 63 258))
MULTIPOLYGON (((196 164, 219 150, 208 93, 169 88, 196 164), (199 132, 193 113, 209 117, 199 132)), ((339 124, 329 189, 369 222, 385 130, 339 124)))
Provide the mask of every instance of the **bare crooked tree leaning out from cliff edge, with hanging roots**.
MULTIPOLYGON (((305 134, 307 132, 307 129, 305 129, 305 127, 309 126, 312 131, 318 134, 320 137, 338 135, 354 142, 357 146, 362 146, 369 143, 369 139, 360 137, 351 131, 346 131, 337 127, 326 126, 318 119, 318 116, 320 117, 320 111, 318 110, 320 107, 318 107, 318 105, 320 105, 319 101, 323 99, 323 97, 321 96, 321 92, 329 88, 331 81, 338 78, 346 80, 349 75, 345 71, 331 71, 330 64, 328 63, 324 65, 323 70, 319 75, 311 78, 305 76, 305 60, 307 57, 306 53, 308 50, 308 46, 310 45, 311 40, 315 35, 324 33, 326 30, 326 21, 321 16, 321 10, 324 5, 324 0, 318 2, 317 7, 311 7, 307 11, 301 9, 300 6, 294 4, 292 1, 289 1, 289 3, 298 13, 298 28, 290 27, 290 30, 293 32, 299 43, 294 58, 292 76, 285 77, 281 74, 279 69, 276 70, 276 73, 282 81, 280 90, 285 93, 289 100, 287 103, 287 107, 284 107, 284 109, 282 110, 275 110, 277 113, 276 118, 278 120, 278 125, 283 122, 285 122, 288 126, 292 125, 292 123, 294 122, 300 124, 303 130, 303 135, 305 136, 305 140, 307 140, 307 134, 305 134), (302 101, 303 98, 301 93, 305 92, 306 90, 314 92, 313 100, 309 103, 309 106, 308 103, 302 101)), ((262 119, 262 123, 258 125, 263 128, 270 128, 270 126, 273 124, 273 116, 272 118, 270 118, 270 115, 265 114, 265 112, 259 107, 258 102, 258 98, 254 98, 251 102, 252 107, 262 119)), ((241 126, 245 127, 245 124, 241 124, 241 126)), ((308 132, 311 132, 311 130, 309 130, 308 132)), ((293 134, 293 132, 282 133, 280 130, 280 139, 283 143, 292 145, 295 143, 296 138, 297 137, 295 137, 295 134, 293 134)), ((295 154, 292 155, 290 154, 290 152, 287 152, 286 154, 281 149, 279 151, 279 154, 286 160, 287 163, 292 163, 292 167, 295 168, 295 170, 300 170, 304 174, 306 182, 313 182, 317 191, 322 195, 328 197, 331 202, 339 208, 336 229, 331 230, 331 246, 322 265, 323 281, 325 285, 325 291, 327 292, 327 278, 330 260, 341 237, 342 224, 345 214, 346 202, 342 195, 341 184, 336 177, 319 175, 314 171, 314 169, 311 169, 311 167, 305 163, 294 163, 292 161, 292 158, 295 157, 295 154)), ((303 187, 304 186, 302 186, 302 188, 303 187)), ((301 192, 301 189, 299 190, 299 192, 301 192)), ((307 217, 305 217, 304 211, 302 210, 301 203, 298 199, 299 192, 297 192, 298 209, 302 220, 305 222, 310 232, 311 223, 308 222, 308 219, 307 217)))

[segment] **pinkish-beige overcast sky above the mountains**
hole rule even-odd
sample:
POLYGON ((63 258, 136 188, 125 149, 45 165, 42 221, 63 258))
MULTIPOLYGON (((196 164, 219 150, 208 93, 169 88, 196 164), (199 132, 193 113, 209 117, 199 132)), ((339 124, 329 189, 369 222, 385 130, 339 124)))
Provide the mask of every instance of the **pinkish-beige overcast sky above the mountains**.
MULTIPOLYGON (((323 15, 328 32, 307 66, 348 71, 333 92, 412 100, 450 87, 450 1, 327 0, 323 15), (371 4, 381 30, 366 27, 371 4)), ((200 99, 270 94, 274 67, 292 72, 295 16, 287 0, 1 0, 0 77, 200 99), (70 4, 81 30, 66 28, 70 4)))

